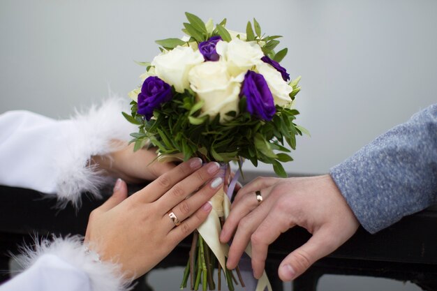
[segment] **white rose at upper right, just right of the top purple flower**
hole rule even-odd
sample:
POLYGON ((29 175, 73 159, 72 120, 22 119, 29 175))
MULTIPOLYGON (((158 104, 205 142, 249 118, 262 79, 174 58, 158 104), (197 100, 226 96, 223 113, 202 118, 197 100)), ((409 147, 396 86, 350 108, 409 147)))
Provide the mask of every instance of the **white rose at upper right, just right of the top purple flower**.
POLYGON ((217 53, 228 64, 228 70, 232 76, 246 73, 264 57, 261 47, 255 41, 244 41, 238 38, 229 43, 219 41, 216 45, 217 53))

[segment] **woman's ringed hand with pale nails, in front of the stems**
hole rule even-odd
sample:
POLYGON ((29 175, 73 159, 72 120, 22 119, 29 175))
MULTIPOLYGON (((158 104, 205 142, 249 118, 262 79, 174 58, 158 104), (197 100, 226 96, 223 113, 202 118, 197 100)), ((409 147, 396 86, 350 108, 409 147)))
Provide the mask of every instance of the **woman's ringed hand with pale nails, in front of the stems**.
POLYGON ((130 197, 119 179, 114 194, 91 212, 85 242, 103 261, 118 263, 126 278, 145 274, 205 221, 208 200, 223 185, 214 178, 218 169, 218 163, 202 167, 200 158, 192 158, 130 197))

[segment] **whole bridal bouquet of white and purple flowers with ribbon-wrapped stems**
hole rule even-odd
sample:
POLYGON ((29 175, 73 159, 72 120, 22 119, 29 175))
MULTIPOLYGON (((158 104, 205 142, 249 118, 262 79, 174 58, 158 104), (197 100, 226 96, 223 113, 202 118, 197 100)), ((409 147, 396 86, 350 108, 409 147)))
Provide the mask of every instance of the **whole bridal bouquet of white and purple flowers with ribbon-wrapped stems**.
MULTIPOLYGON (((129 94, 131 114, 123 112, 139 126, 132 133, 135 150, 157 147, 163 161, 197 156, 223 167, 235 161, 240 171, 245 159, 255 166, 261 161, 286 177, 281 163, 292 158, 284 144, 295 149, 296 135, 306 130, 295 124, 299 112, 292 109, 300 77, 290 81, 279 64, 287 49, 275 51, 281 36, 266 36, 255 19, 242 33, 227 29, 226 19, 214 25, 191 13, 186 17, 184 37, 156 40, 161 53, 151 62, 138 62, 145 66, 142 84, 129 94)), ((194 234, 181 288, 191 275, 191 290, 200 284, 202 290, 214 290, 215 267, 218 284, 221 271, 230 290, 232 280, 237 283, 225 267, 228 246, 218 240, 230 197, 222 189, 213 200, 209 218, 194 234)), ((237 275, 242 281, 238 270, 237 275)), ((266 286, 264 276, 257 290, 266 286)))

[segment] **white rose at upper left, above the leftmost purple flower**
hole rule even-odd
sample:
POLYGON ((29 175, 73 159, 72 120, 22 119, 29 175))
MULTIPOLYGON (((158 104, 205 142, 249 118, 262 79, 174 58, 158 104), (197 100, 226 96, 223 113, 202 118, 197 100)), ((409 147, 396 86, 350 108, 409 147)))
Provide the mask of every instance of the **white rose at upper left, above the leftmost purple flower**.
POLYGON ((192 47, 177 46, 165 54, 159 54, 151 62, 155 73, 164 82, 175 87, 179 93, 188 89, 188 72, 193 66, 202 63, 203 56, 192 47))

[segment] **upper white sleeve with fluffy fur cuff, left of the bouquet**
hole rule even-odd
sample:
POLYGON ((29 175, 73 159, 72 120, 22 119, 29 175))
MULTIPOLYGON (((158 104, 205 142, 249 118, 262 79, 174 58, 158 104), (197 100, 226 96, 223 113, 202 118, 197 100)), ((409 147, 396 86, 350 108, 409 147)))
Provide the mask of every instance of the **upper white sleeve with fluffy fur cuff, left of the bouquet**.
POLYGON ((89 158, 114 151, 135 126, 121 115, 127 104, 109 99, 87 114, 57 121, 27 111, 0 114, 0 184, 56 194, 77 205, 80 194, 99 196, 107 181, 89 158))

